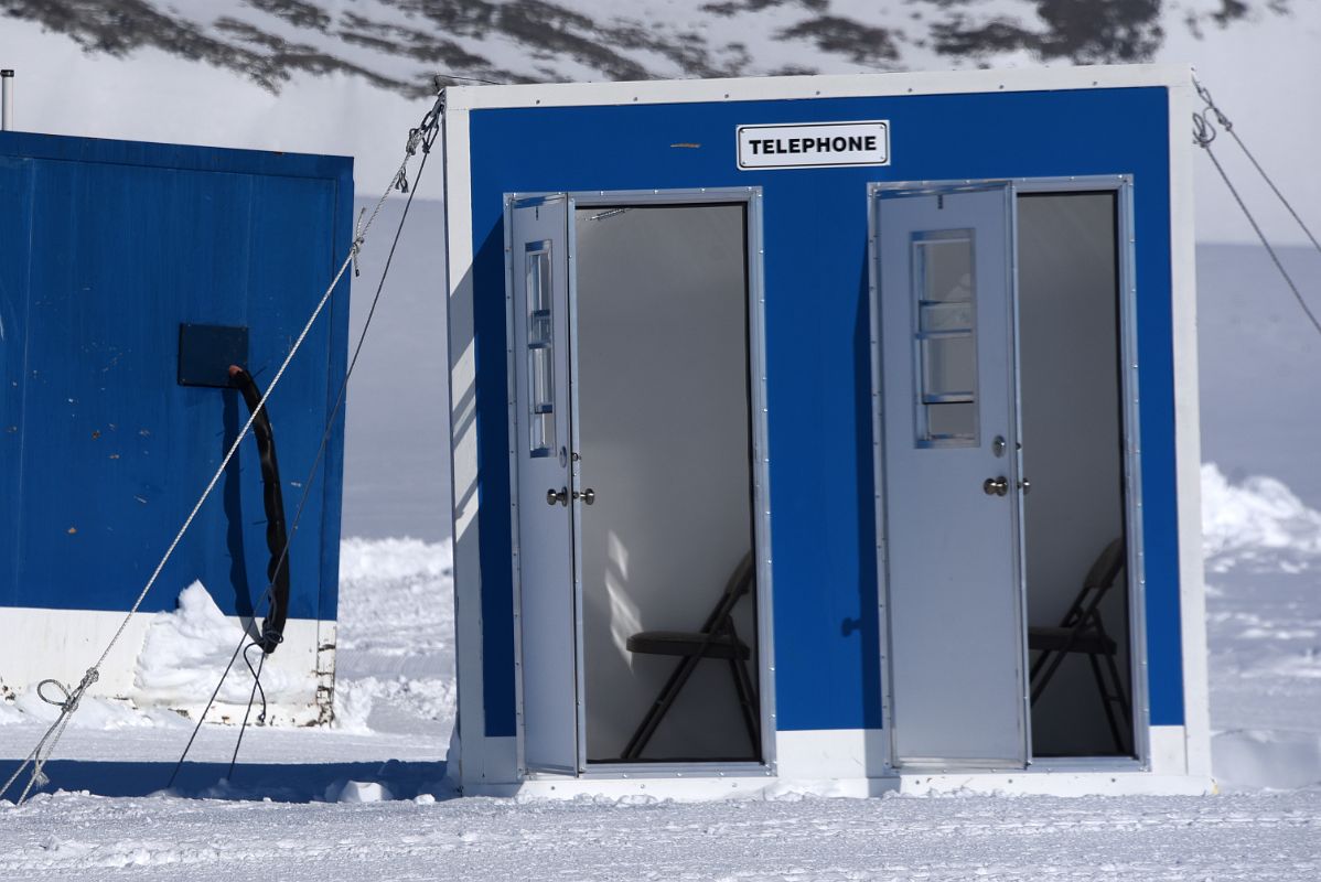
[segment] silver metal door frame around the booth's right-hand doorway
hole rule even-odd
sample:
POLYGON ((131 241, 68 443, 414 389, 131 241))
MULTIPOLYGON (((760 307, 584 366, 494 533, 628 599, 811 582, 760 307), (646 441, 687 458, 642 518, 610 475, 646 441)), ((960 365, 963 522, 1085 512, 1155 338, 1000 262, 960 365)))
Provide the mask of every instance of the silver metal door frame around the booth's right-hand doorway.
MULTIPOLYGON (((1132 737, 1136 759, 1123 757, 1067 757, 1052 758, 1046 762, 1036 762, 1032 758, 1032 684, 1026 681, 1028 643, 1022 640, 1024 659, 1024 705, 1026 710, 1028 742, 1028 771, 1085 771, 1089 768, 1106 768, 1115 771, 1149 771, 1151 770, 1151 701, 1147 683, 1147 570, 1143 536, 1143 496, 1141 496, 1141 426, 1139 413, 1139 360, 1137 360, 1137 279, 1135 265, 1133 235, 1133 176, 1131 174, 1095 174, 1075 177, 1042 177, 1042 178, 988 178, 988 180, 960 180, 960 181, 894 181, 873 182, 867 189, 867 217, 868 217, 868 297, 871 306, 871 350, 872 350, 872 471, 875 477, 875 511, 876 511, 876 573, 877 573, 877 615, 880 619, 880 664, 881 664, 881 737, 886 745, 885 774, 900 774, 896 766, 894 730, 890 726, 893 718, 893 685, 890 676, 893 665, 889 664, 890 636, 889 636, 889 580, 886 560, 886 516, 885 516, 885 450, 882 420, 884 401, 881 399, 881 368, 882 353, 880 342, 880 279, 878 265, 878 218, 877 194, 881 191, 910 190, 914 193, 955 193, 959 190, 980 190, 988 186, 1011 186, 1013 197, 1012 223, 1017 227, 1017 194, 1020 193, 1095 193, 1115 191, 1116 194, 1116 230, 1115 246, 1118 257, 1118 285, 1119 285, 1119 343, 1123 368, 1120 371, 1124 417, 1124 532, 1127 544, 1125 562, 1128 568, 1128 671, 1129 691, 1132 702, 1132 737)), ((1015 230, 1015 242, 1017 240, 1015 230)), ((1013 359, 1015 359, 1015 401, 1013 409, 1017 419, 1020 412, 1017 393, 1017 316, 1018 316, 1018 260, 1017 248, 1009 256, 1011 279, 1013 290, 1011 292, 1013 310, 1013 359)), ((1021 428, 1021 426, 1020 426, 1021 428)), ((1020 433, 1021 434, 1021 433, 1020 433)), ((1026 630, 1026 590, 1021 572, 1022 529, 1020 526, 1018 552, 1020 552, 1020 619, 1026 630)), ((1024 634, 1024 636, 1026 636, 1024 634)))

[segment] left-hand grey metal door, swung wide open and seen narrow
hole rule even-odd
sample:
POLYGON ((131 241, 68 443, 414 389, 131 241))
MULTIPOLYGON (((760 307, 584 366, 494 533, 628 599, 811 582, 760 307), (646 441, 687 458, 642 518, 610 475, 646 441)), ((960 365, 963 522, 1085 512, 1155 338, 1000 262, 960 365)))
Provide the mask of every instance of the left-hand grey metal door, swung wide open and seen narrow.
POLYGON ((565 194, 506 205, 517 459, 523 762, 579 771, 579 630, 571 481, 569 224, 565 194))

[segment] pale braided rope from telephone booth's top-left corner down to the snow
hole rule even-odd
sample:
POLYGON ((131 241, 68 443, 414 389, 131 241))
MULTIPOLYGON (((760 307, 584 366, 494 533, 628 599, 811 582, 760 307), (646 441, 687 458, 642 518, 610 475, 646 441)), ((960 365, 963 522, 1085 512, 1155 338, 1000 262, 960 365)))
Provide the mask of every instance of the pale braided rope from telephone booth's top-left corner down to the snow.
MULTIPOLYGON (((345 256, 343 261, 339 264, 339 268, 336 272, 334 279, 332 279, 330 284, 326 287, 325 293, 317 301, 317 305, 312 310, 312 314, 308 317, 308 321, 304 323, 301 333, 293 341, 293 345, 291 346, 288 355, 285 355, 284 362, 280 364, 280 368, 276 371, 275 378, 271 380, 271 384, 266 390, 266 393, 262 396, 262 400, 258 403, 258 405, 255 408, 252 408, 252 413, 248 416, 247 423, 243 424, 243 429, 239 432, 238 437, 234 438, 234 444, 230 445, 230 449, 226 452, 225 458, 221 461, 221 465, 217 467, 215 474, 211 475, 211 479, 207 482, 206 489, 202 490, 202 495, 198 496, 197 503, 193 506, 193 508, 189 512, 188 518, 184 520, 184 524, 180 527, 178 532, 174 535, 173 541, 170 541, 169 547, 165 549, 165 553, 161 556, 161 560, 156 565, 156 569, 152 570, 152 574, 147 580, 147 584, 143 586, 143 590, 139 592, 137 598, 133 601, 132 607, 124 615, 124 619, 119 623, 119 627, 115 630, 115 634, 111 636, 110 643, 106 644, 106 650, 100 654, 100 658, 96 659, 95 664, 92 664, 90 668, 87 668, 87 672, 83 675, 83 679, 73 689, 67 689, 58 680, 42 680, 37 685, 37 693, 40 696, 41 695, 41 687, 44 687, 46 683, 55 684, 59 688, 59 691, 63 693, 65 700, 62 702, 57 702, 57 701, 50 701, 49 698, 45 698, 42 696, 42 698, 45 701, 48 701, 49 704, 57 704, 59 706, 59 716, 50 725, 50 728, 46 729, 45 734, 37 741, 37 746, 32 749, 32 751, 18 764, 18 768, 16 768, 15 772, 9 776, 9 779, 4 783, 4 787, 0 787, 0 797, 3 797, 7 792, 9 792, 9 788, 18 779, 18 776, 24 772, 24 770, 28 768, 29 766, 32 767, 32 774, 30 774, 30 776, 28 779, 28 784, 22 788, 22 792, 18 795, 18 799, 17 799, 17 803, 16 803, 17 805, 21 805, 28 799, 28 796, 32 792, 33 787, 44 784, 48 780, 42 770, 44 770, 46 762, 50 759, 50 755, 54 751, 55 746, 58 745, 59 739, 63 737, 65 729, 69 725, 69 720, 73 717, 74 712, 78 710, 79 701, 82 701, 82 697, 87 692, 87 689, 94 683, 96 683, 96 680, 99 679, 99 676, 100 676, 100 665, 104 664, 104 662, 110 656, 110 652, 114 648, 115 643, 118 643, 119 639, 123 636, 124 630, 128 627, 129 621, 137 613, 139 607, 143 605, 143 601, 147 599, 147 594, 155 586, 156 580, 160 578, 161 572, 165 569, 165 565, 166 565, 166 562, 169 562, 169 559, 174 555, 174 551, 178 548, 178 544, 182 541, 184 535, 188 532, 189 527, 193 526, 193 522, 197 518, 198 511, 201 511, 202 506, 210 498, 211 491, 215 490, 215 485, 219 483, 219 479, 225 474, 225 470, 229 467, 230 461, 234 458, 235 453, 238 453, 239 445, 243 442, 243 438, 246 438, 247 434, 248 434, 248 432, 251 432, 252 423, 256 420, 258 415, 266 408, 266 403, 271 397, 271 393, 275 392, 275 388, 280 384, 280 380, 284 376, 284 372, 288 370, 289 363, 293 360, 293 356, 297 354, 299 349, 303 346, 303 343, 306 339, 308 334, 312 331, 312 326, 316 323, 317 318, 321 316, 322 310, 325 309, 325 305, 329 302, 332 294, 334 293, 336 287, 338 287, 339 280, 343 277, 343 273, 349 269, 350 264, 353 264, 353 263, 357 261, 359 250, 362 248, 363 243, 366 243, 366 234, 371 228, 371 224, 375 222, 376 217, 380 214, 382 207, 384 207, 386 199, 390 198, 390 191, 392 189, 395 189, 396 185, 400 185, 400 182, 403 185, 402 189, 407 189, 407 185, 408 185, 408 162, 416 154, 419 144, 421 144, 424 140, 427 140, 428 136, 429 136, 431 140, 435 139, 435 133, 433 132, 439 128, 439 119, 440 119, 440 114, 441 114, 443 108, 444 108, 444 94, 441 92, 441 95, 437 95, 436 103, 432 106, 432 108, 429 111, 427 111, 427 114, 423 116, 421 125, 419 125, 415 129, 410 129, 410 132, 408 132, 408 144, 406 147, 404 158, 399 164, 399 169, 391 177, 390 186, 387 186, 386 190, 380 194, 380 198, 376 201, 376 205, 373 209, 371 215, 366 219, 366 223, 362 223, 358 227, 357 235, 354 236, 354 240, 353 240, 353 244, 349 247, 349 254, 345 256)), ((431 140, 427 140, 428 149, 431 147, 431 140)), ((423 156, 423 160, 425 161, 425 154, 423 156)), ((324 448, 324 444, 322 444, 322 448, 324 448)), ((292 533, 291 533, 291 539, 292 539, 292 533)), ((285 543, 285 555, 287 553, 288 553, 288 541, 285 543)), ((284 560, 284 556, 281 556, 281 565, 283 565, 283 560, 284 560)), ((234 660, 231 659, 230 660, 230 665, 231 667, 232 667, 232 663, 234 663, 234 660)), ((213 697, 213 700, 214 700, 214 697, 213 697)))

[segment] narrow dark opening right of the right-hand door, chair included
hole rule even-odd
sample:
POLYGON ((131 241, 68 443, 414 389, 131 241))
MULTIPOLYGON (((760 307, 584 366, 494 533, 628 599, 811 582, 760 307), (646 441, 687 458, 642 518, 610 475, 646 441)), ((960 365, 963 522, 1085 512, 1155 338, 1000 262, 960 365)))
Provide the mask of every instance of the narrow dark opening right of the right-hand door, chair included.
POLYGON ((1034 757, 1132 757, 1119 195, 1020 193, 1034 757))

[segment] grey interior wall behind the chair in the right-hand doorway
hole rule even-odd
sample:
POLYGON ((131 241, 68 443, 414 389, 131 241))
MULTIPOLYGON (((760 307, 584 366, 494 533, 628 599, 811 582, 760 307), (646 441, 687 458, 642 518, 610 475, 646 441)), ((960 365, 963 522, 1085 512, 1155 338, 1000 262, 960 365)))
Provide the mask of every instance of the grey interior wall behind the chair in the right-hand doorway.
MULTIPOLYGON (((1123 532, 1115 198, 1018 199, 1018 331, 1029 625, 1054 626, 1100 551, 1123 532)), ((1102 613, 1128 675, 1124 573, 1102 613)), ((1115 751, 1086 656, 1054 675, 1032 714, 1037 755, 1115 751)))

